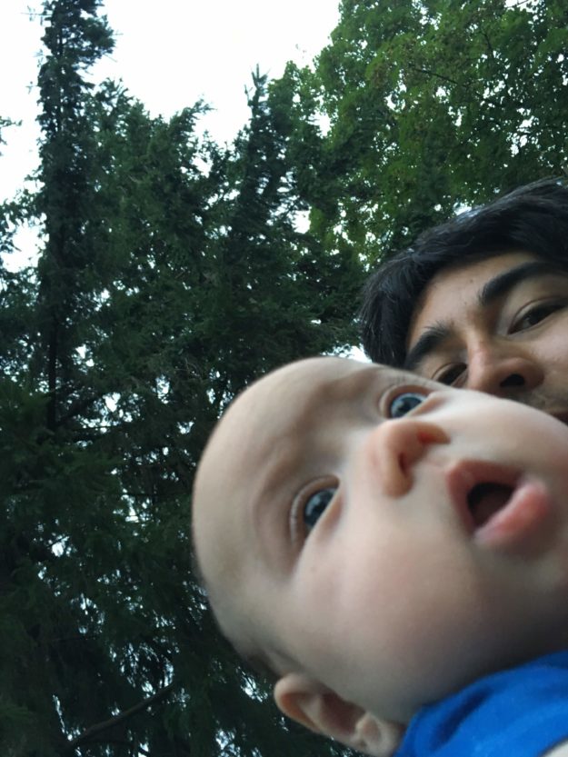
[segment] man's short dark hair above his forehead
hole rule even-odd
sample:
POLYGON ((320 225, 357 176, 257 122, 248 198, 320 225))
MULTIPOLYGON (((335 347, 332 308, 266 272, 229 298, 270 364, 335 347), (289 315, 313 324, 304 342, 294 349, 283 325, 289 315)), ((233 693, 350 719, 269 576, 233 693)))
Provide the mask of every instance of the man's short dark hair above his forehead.
POLYGON ((380 265, 364 287, 365 352, 401 367, 414 309, 433 277, 508 252, 533 253, 568 271, 568 188, 561 181, 526 184, 459 214, 380 265))

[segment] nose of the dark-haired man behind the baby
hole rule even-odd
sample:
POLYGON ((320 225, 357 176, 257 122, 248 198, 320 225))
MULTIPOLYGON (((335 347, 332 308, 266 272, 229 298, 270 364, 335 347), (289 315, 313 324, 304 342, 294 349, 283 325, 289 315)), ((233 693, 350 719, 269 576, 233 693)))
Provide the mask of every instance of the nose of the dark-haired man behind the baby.
POLYGON ((514 399, 539 386, 543 379, 540 364, 514 344, 481 344, 470 355, 466 387, 514 399))

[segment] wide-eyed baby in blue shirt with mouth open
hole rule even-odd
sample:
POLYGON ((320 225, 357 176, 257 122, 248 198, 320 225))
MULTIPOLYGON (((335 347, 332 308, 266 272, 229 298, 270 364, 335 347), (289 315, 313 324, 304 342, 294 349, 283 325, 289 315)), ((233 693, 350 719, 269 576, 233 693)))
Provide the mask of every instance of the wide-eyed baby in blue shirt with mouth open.
POLYGON ((382 757, 560 755, 567 491, 553 417, 312 358, 218 423, 194 547, 222 631, 308 728, 382 757))

